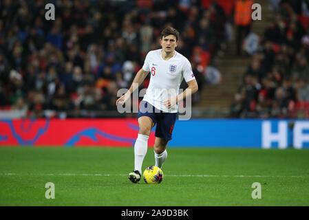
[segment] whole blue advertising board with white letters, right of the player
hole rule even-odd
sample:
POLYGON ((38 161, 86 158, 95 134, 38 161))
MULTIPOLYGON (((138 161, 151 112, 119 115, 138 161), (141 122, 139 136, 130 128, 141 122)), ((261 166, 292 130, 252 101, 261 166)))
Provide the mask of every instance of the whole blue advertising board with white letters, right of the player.
POLYGON ((191 119, 175 123, 170 147, 309 147, 309 120, 191 119), (292 131, 289 124, 294 122, 292 131))

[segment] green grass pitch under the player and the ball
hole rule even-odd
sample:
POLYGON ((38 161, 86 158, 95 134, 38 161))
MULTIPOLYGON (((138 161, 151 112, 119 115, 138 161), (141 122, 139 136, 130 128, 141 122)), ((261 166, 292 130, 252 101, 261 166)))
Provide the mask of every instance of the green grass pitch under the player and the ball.
MULTIPOLYGON (((168 148, 161 184, 132 184, 133 148, 0 147, 0 206, 308 206, 309 151, 168 148), (54 183, 55 199, 45 198, 54 183), (253 199, 254 182, 262 199, 253 199)), ((149 148, 143 168, 154 164, 149 148)))

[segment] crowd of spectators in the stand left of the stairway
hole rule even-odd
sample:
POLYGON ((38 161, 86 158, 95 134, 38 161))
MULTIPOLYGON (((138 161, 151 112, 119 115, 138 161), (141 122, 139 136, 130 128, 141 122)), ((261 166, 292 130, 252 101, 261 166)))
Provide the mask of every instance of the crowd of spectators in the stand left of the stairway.
POLYGON ((147 52, 160 48, 167 26, 180 31, 177 50, 191 61, 202 91, 226 21, 219 5, 202 2, 0 1, 0 108, 30 118, 50 116, 46 110, 62 113, 55 117, 116 111, 118 89, 128 88, 147 52), (55 20, 45 19, 47 3, 55 20))

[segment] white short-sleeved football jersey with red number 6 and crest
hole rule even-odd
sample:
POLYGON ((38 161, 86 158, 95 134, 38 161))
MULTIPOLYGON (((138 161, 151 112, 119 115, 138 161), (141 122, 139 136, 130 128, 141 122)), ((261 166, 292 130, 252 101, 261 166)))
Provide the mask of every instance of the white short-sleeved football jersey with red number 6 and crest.
POLYGON ((168 109, 163 102, 168 98, 177 96, 182 80, 189 82, 195 79, 191 63, 182 54, 175 55, 168 61, 161 56, 162 49, 148 52, 145 63, 142 66, 146 72, 150 72, 150 82, 143 98, 157 109, 164 112, 178 112, 178 104, 168 109))

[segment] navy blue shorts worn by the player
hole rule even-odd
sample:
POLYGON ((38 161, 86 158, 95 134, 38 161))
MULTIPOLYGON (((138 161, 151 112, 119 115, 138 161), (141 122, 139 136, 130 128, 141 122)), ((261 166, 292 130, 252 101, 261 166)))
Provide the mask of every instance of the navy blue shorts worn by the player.
POLYGON ((156 126, 156 137, 161 137, 163 140, 171 140, 174 124, 178 113, 163 112, 156 107, 153 107, 149 102, 142 100, 140 102, 140 110, 138 111, 138 118, 148 116, 152 119, 156 126))

